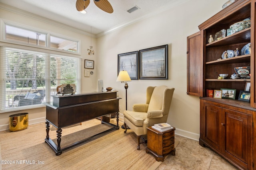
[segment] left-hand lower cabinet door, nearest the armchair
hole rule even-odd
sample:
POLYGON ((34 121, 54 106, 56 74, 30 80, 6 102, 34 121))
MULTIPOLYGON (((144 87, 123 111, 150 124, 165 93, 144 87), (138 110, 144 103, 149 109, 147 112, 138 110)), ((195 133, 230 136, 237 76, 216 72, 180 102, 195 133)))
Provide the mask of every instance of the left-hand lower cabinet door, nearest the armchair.
POLYGON ((207 103, 203 107, 203 112, 200 112, 200 138, 216 150, 221 150, 222 107, 207 103))

